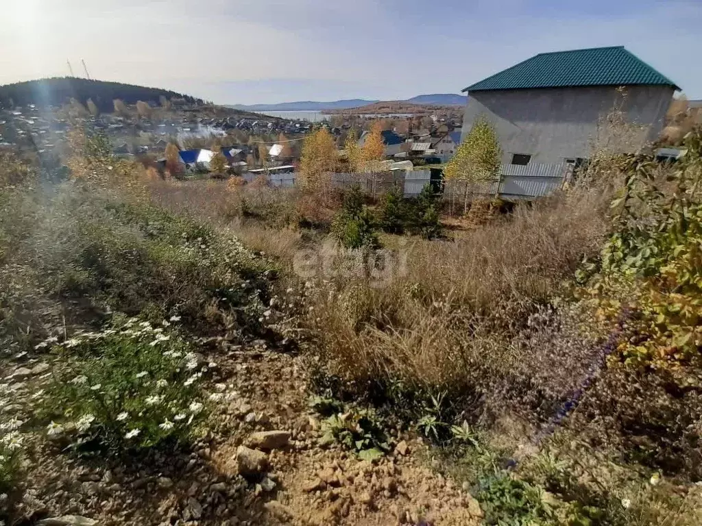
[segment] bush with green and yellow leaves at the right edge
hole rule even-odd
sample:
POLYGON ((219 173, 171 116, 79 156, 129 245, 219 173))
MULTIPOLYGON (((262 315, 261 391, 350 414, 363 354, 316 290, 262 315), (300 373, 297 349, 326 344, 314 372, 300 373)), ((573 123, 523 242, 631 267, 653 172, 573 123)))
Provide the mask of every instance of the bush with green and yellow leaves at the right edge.
POLYGON ((611 205, 613 234, 578 274, 589 278, 583 295, 599 316, 629 312, 619 351, 635 365, 680 363, 702 348, 702 131, 685 146, 665 180, 652 159, 630 158, 623 195, 611 205))

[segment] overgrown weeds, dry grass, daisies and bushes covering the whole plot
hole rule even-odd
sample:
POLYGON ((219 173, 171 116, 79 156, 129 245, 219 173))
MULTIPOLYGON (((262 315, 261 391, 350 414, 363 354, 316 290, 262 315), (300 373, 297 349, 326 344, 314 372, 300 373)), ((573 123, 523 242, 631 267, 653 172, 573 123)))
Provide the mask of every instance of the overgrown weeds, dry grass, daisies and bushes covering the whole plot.
MULTIPOLYGON (((487 203, 452 235, 430 186, 374 203, 332 189, 329 159, 306 161, 301 191, 193 184, 113 165, 77 135, 73 180, 43 186, 37 164, 10 158, 0 170, 0 338, 15 356, 53 349, 32 424, 54 440, 186 447, 216 366, 193 342, 274 337, 283 297, 324 394, 323 444, 373 461, 394 445, 387 422, 416 433, 488 524, 695 525, 701 136, 673 166, 602 156, 554 196, 509 215, 487 203), (316 266, 296 276, 303 251, 316 266)), ((4 491, 26 429, 1 430, 4 491)))

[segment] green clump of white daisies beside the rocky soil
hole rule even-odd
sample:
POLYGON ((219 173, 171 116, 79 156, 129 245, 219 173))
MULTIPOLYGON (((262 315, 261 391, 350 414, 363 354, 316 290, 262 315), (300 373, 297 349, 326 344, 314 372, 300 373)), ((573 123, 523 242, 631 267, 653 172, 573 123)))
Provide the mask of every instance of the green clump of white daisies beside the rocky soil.
POLYGON ((207 365, 173 332, 133 318, 53 352, 57 369, 44 398, 50 436, 119 452, 187 441, 204 417, 207 365))

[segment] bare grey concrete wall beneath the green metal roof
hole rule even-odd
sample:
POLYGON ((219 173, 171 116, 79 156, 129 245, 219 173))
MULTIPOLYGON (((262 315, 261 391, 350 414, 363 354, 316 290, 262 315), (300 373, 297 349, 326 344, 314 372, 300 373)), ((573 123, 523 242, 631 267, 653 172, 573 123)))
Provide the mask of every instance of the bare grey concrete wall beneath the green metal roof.
POLYGON ((626 133, 611 133, 602 121, 614 104, 621 102, 613 86, 472 92, 468 94, 461 140, 475 119, 485 114, 496 127, 506 164, 511 163, 512 154, 531 155, 531 163, 589 159, 593 144, 635 151, 658 137, 673 88, 629 86, 626 93, 622 108, 626 119, 640 126, 628 126, 626 133))

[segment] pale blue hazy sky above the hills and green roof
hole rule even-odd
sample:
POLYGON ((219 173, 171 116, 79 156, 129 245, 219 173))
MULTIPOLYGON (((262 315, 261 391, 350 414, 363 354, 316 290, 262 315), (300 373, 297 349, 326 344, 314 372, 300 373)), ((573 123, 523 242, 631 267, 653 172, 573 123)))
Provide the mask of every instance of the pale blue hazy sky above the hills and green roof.
POLYGON ((460 93, 537 53, 625 46, 702 99, 702 0, 1 0, 0 84, 65 76, 218 104, 460 93))

